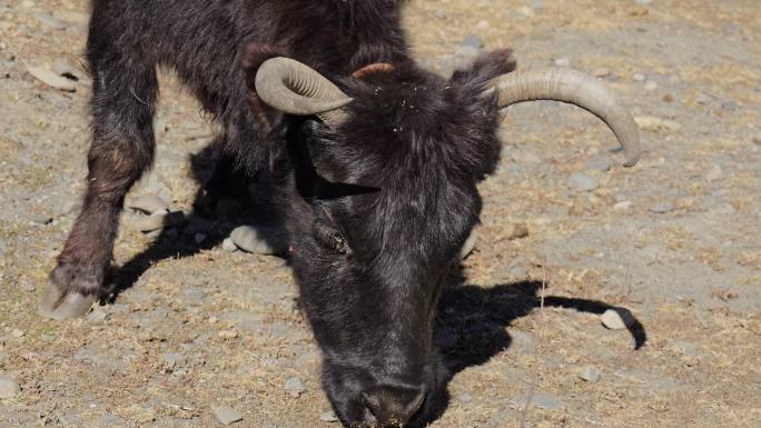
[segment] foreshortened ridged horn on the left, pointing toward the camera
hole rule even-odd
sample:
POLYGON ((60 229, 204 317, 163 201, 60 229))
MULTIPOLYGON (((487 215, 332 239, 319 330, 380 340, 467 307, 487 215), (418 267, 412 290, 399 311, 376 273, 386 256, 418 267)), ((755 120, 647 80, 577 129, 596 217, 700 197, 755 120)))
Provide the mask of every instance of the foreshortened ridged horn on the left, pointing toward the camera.
POLYGON ((330 127, 346 119, 340 108, 352 102, 323 74, 289 58, 271 58, 261 63, 255 84, 256 93, 269 107, 289 115, 317 115, 330 127))

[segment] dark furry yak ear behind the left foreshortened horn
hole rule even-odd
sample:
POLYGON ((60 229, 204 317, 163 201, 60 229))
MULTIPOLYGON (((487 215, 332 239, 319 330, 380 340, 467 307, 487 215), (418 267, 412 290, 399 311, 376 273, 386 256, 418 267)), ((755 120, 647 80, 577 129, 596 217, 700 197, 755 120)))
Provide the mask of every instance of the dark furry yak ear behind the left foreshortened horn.
POLYGON ((276 57, 288 57, 288 54, 285 50, 271 44, 248 42, 244 46, 239 60, 246 84, 246 104, 266 130, 275 128, 275 125, 283 120, 283 113, 267 106, 256 93, 256 73, 266 60, 276 57))

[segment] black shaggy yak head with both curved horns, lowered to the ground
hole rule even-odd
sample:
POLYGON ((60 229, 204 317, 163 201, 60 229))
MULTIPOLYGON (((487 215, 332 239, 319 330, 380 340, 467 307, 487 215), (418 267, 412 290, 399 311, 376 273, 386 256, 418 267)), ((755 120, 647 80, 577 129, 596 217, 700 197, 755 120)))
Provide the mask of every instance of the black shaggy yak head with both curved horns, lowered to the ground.
POLYGON ((501 109, 576 103, 636 162, 636 128, 596 80, 514 66, 502 50, 449 79, 412 61, 332 79, 288 58, 247 70, 249 92, 286 115, 293 267, 346 426, 416 425, 445 389, 435 309, 478 221, 476 183, 498 161, 501 109))

